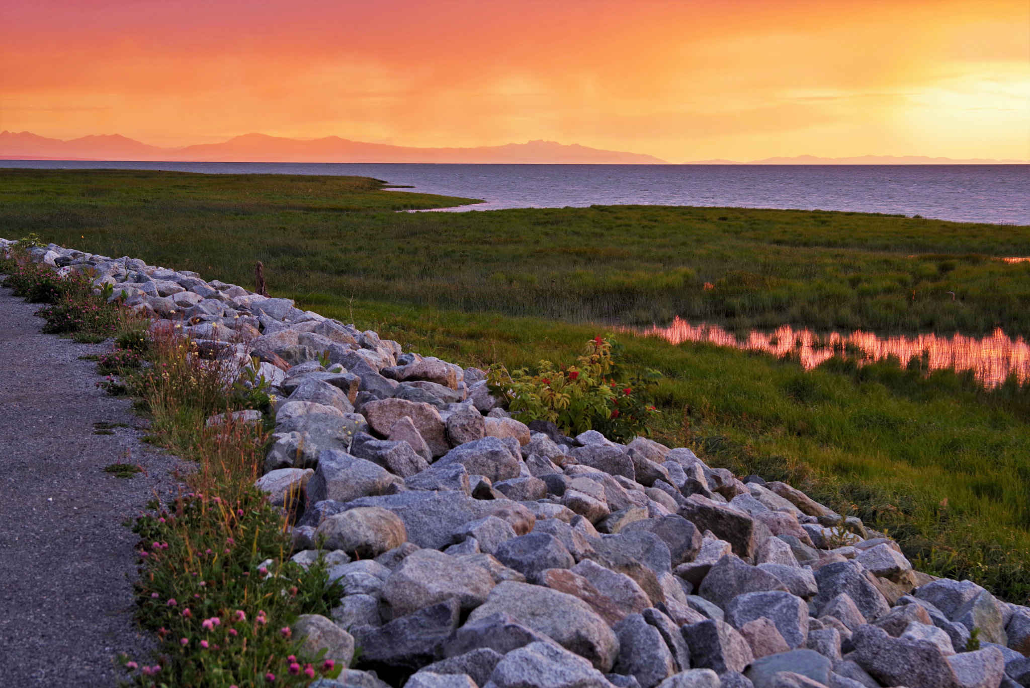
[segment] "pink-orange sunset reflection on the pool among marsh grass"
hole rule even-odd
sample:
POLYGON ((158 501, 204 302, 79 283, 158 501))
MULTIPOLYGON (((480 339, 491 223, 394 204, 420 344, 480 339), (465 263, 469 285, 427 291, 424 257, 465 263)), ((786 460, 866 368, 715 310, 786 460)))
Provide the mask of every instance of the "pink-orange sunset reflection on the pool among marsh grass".
POLYGON ((1006 336, 1000 328, 980 338, 961 334, 880 337, 858 330, 851 334, 817 334, 784 325, 774 332, 752 331, 746 338, 737 338, 718 325, 691 325, 677 317, 668 327, 652 326, 636 331, 658 335, 673 343, 708 341, 720 347, 764 351, 775 356, 792 353, 805 368, 814 368, 833 356, 848 353, 857 354, 860 362, 894 356, 904 364, 917 357, 924 359, 923 365, 929 370, 971 369, 976 380, 988 387, 1000 385, 1010 373, 1016 373, 1021 383, 1030 380, 1030 345, 1021 336, 1015 339, 1006 336))

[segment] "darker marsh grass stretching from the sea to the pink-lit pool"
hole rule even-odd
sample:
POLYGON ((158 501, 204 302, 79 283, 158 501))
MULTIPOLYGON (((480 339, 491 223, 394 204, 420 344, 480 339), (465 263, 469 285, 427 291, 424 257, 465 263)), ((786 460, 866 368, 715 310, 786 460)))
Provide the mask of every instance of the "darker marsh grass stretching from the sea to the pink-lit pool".
POLYGON ((1030 335, 1030 263, 992 260, 1030 256, 1030 227, 664 206, 394 211, 466 201, 357 177, 6 169, 0 233, 241 285, 261 260, 278 291, 572 322, 1030 335))

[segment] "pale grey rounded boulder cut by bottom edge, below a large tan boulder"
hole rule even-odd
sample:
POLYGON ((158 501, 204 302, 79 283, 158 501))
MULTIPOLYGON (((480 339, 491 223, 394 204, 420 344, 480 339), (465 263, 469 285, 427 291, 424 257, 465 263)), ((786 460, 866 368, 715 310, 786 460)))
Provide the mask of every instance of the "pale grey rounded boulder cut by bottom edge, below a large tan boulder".
MULTIPOLYGON (((550 643, 530 643, 505 655, 489 688, 612 688, 590 662, 550 643)), ((485 688, 485 687, 484 687, 485 688)))

